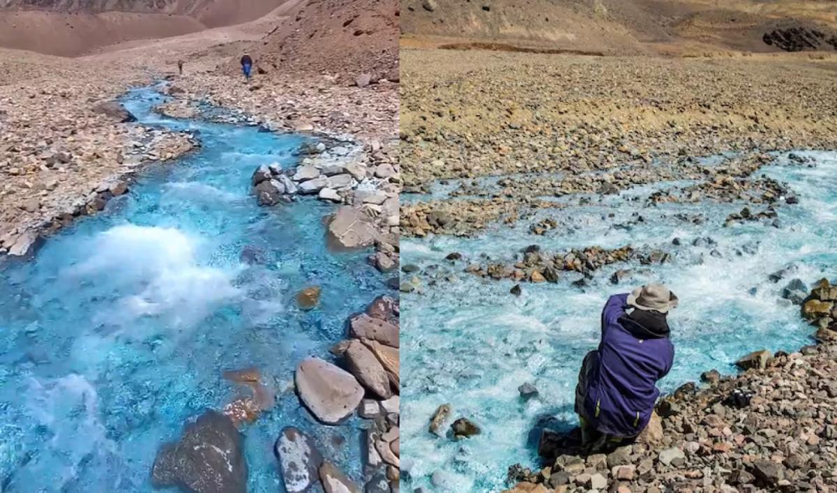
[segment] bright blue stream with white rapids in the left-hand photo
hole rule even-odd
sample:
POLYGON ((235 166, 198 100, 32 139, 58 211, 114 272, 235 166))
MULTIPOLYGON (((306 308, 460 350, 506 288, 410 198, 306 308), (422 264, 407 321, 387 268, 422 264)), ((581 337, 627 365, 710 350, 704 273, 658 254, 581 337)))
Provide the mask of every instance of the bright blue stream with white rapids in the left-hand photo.
POLYGON ((150 491, 158 446, 238 395, 223 370, 252 366, 280 395, 244 429, 249 491, 284 491, 272 446, 291 424, 357 478, 357 421, 314 424, 288 388, 383 279, 368 252, 326 250, 331 206, 256 206, 252 172, 294 166, 300 136, 173 121, 151 114, 161 100, 137 90, 126 106, 141 123, 199 131, 203 147, 143 173, 34 259, 0 265, 0 490, 150 491), (243 262, 245 247, 264 261, 243 262), (301 312, 306 285, 322 302, 301 312))

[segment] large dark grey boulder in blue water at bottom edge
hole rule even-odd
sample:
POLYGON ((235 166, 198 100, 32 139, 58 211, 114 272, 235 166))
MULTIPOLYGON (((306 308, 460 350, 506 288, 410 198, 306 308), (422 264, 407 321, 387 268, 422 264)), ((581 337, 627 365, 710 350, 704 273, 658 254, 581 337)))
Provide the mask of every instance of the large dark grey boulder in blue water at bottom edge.
POLYGON ((244 439, 228 417, 207 411, 186 425, 177 443, 160 448, 151 482, 197 493, 245 493, 244 439))

